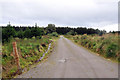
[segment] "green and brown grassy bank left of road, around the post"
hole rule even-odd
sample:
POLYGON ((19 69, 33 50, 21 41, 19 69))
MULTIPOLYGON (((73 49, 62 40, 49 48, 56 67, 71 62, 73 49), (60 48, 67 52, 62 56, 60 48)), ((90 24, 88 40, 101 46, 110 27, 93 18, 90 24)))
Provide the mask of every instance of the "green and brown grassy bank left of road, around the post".
MULTIPOLYGON (((12 78, 16 75, 17 65, 15 57, 13 55, 12 42, 17 42, 17 49, 20 58, 21 69, 27 68, 36 63, 43 53, 48 49, 48 45, 52 43, 51 49, 53 48, 53 40, 56 37, 53 36, 42 36, 41 39, 32 37, 30 39, 14 38, 9 43, 2 45, 2 77, 12 78)), ((48 51, 49 53, 50 51, 48 51)))

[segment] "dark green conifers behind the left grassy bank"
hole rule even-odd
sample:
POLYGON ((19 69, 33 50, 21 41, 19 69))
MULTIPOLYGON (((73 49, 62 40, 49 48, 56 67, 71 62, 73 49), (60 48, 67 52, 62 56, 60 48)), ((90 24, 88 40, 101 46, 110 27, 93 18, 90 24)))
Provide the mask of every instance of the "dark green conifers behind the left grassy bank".
POLYGON ((33 27, 16 27, 11 26, 8 24, 7 26, 2 26, 2 42, 9 42, 11 38, 32 38, 32 37, 38 37, 41 38, 42 35, 44 35, 44 28, 40 28, 37 26, 33 27))

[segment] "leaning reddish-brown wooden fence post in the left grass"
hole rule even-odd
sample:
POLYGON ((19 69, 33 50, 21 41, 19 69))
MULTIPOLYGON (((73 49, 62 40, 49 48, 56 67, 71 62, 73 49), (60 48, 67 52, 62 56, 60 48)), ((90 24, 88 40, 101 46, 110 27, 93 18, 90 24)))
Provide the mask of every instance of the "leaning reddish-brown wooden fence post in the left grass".
POLYGON ((17 50, 17 44, 16 42, 13 42, 13 54, 15 56, 15 62, 17 64, 17 68, 18 68, 18 73, 21 73, 21 67, 20 67, 20 62, 19 62, 19 54, 18 54, 18 50, 17 50))

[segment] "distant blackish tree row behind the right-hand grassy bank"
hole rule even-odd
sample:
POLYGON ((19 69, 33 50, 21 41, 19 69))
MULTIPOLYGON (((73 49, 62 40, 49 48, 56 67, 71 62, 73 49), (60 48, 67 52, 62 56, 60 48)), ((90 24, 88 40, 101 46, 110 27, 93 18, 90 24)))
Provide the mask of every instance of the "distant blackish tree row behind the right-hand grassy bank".
POLYGON ((78 27, 78 28, 69 28, 69 27, 57 27, 56 32, 58 34, 71 34, 71 35, 76 35, 76 34, 105 34, 105 30, 98 30, 98 29, 93 29, 93 28, 83 28, 83 27, 78 27))

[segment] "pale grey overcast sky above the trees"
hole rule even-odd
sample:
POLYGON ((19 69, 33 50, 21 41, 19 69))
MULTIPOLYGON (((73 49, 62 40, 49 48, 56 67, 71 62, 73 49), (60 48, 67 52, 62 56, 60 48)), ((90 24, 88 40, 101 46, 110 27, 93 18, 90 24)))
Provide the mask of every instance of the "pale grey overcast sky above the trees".
POLYGON ((119 0, 0 0, 0 25, 92 27, 118 30, 119 0))

